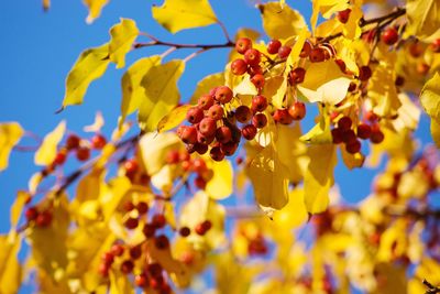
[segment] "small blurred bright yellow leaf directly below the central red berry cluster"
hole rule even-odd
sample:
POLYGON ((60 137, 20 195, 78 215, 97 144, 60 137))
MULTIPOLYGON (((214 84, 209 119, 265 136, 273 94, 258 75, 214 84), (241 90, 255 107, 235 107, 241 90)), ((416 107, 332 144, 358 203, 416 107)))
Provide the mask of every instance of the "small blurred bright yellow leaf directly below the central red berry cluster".
POLYGON ((224 199, 232 194, 233 170, 230 161, 208 161, 213 176, 206 185, 205 192, 213 199, 224 199))

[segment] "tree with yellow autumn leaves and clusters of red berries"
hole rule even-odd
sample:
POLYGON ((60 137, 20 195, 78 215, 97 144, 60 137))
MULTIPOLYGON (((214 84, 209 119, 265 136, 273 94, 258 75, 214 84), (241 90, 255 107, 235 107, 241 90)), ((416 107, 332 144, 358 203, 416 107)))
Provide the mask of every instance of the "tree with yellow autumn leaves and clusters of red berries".
MULTIPOLYGON (((106 1, 86 3, 91 22, 106 1)), ((36 140, 42 170, 0 237, 0 293, 31 272, 42 293, 170 293, 209 269, 216 293, 440 293, 440 8, 408 0, 366 18, 363 4, 315 0, 307 25, 285 1, 260 3, 267 37, 243 29, 233 40, 207 0, 152 8, 172 33, 220 25, 227 41, 216 44, 158 40, 121 19, 108 43, 80 54, 59 111, 130 52, 168 48, 125 69, 111 135, 97 115, 91 138, 63 121, 36 140), (180 101, 187 62, 220 47, 231 48, 224 72, 180 101), (194 53, 165 59, 180 48, 194 53), (417 145, 421 111, 436 145, 417 145), (333 200, 338 152, 350 170, 386 155, 358 206, 333 200), (77 168, 64 175, 67 160, 77 168)), ((1 170, 28 149, 23 135, 0 124, 1 170)))

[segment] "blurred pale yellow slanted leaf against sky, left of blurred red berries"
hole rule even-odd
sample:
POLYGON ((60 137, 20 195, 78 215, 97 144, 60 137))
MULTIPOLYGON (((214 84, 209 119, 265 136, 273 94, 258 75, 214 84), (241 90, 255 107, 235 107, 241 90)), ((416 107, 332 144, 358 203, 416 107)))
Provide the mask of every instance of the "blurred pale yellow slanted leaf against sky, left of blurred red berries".
POLYGON ((50 132, 43 140, 42 145, 35 152, 34 162, 37 165, 50 165, 54 162, 56 156, 56 148, 62 141, 66 131, 66 122, 62 121, 59 124, 50 132))

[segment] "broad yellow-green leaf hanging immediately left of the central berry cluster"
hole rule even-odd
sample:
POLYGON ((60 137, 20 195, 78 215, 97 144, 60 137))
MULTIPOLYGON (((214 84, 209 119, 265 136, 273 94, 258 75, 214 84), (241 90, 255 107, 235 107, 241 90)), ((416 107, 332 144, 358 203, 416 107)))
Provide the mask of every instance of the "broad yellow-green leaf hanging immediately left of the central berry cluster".
POLYGON ((153 66, 142 78, 141 86, 145 90, 138 121, 143 131, 156 130, 160 120, 178 102, 180 95, 177 80, 185 69, 183 61, 153 66))

